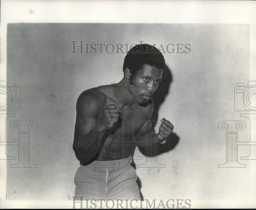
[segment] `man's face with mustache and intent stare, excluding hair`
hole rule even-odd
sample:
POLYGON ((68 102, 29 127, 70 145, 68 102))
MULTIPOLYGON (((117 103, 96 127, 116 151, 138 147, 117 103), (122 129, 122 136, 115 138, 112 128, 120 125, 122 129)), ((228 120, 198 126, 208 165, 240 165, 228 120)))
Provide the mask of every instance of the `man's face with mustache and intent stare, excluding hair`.
POLYGON ((130 80, 135 83, 135 86, 147 87, 147 91, 140 93, 140 103, 145 103, 152 97, 152 94, 157 89, 159 82, 162 79, 163 69, 158 69, 154 66, 144 64, 143 68, 138 70, 130 80))

